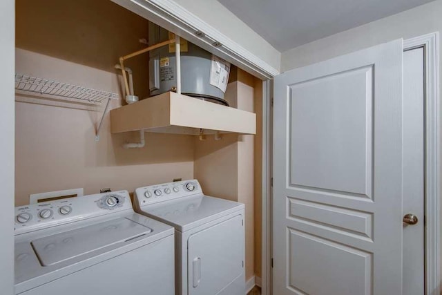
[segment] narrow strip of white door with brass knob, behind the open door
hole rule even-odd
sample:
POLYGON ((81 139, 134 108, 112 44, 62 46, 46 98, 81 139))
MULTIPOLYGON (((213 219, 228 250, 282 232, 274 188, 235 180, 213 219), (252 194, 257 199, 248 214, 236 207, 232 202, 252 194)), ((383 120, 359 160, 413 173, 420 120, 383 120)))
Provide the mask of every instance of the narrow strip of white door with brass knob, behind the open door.
POLYGON ((424 51, 403 54, 403 215, 414 213, 416 225, 403 225, 403 295, 424 293, 424 51))

